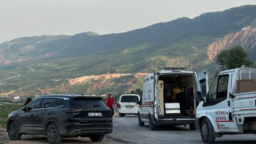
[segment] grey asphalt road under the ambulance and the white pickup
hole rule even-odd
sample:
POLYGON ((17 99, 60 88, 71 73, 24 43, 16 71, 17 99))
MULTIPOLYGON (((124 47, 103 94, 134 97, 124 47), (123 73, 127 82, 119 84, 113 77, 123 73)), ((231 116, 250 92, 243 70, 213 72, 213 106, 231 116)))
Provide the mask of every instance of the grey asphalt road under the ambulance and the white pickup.
MULTIPOLYGON (((126 115, 113 117, 113 132, 109 137, 120 142, 134 144, 204 144, 198 130, 189 126, 158 126, 150 130, 148 123, 138 125, 138 116, 126 115)), ((215 139, 215 144, 255 144, 255 134, 224 135, 215 139)))

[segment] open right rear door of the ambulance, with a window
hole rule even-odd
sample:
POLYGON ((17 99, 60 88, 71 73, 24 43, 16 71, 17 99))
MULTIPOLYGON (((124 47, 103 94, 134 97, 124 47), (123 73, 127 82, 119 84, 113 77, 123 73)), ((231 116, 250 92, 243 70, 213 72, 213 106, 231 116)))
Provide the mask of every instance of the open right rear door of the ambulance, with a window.
POLYGON ((209 90, 208 72, 207 71, 200 72, 200 74, 198 76, 197 83, 198 83, 197 84, 198 91, 201 92, 202 97, 205 97, 209 90))

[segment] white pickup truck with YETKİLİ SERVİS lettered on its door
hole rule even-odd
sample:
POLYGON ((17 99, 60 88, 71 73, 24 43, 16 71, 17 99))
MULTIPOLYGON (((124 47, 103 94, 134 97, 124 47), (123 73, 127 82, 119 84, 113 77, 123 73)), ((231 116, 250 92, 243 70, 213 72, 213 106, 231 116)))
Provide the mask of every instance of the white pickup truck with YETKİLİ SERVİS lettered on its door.
POLYGON ((256 134, 256 68, 220 72, 206 96, 196 92, 196 98, 195 124, 204 143, 223 134, 256 134))

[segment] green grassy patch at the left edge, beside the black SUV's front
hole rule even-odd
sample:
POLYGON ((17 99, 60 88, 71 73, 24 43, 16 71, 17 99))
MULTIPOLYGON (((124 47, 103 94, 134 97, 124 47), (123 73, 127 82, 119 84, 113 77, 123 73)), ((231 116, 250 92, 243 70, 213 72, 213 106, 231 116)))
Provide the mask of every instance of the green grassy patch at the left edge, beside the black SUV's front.
POLYGON ((22 104, 0 103, 0 124, 5 126, 8 114, 19 109, 22 109, 22 104))

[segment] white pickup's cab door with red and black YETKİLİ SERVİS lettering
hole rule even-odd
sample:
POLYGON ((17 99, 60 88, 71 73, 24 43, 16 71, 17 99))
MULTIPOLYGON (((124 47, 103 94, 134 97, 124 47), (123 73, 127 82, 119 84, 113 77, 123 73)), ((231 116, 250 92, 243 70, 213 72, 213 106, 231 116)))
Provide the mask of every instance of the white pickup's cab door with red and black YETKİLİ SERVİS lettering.
POLYGON ((232 120, 229 119, 230 98, 228 97, 230 81, 230 72, 219 74, 208 91, 206 102, 203 104, 206 107, 206 116, 218 131, 231 130, 230 122, 232 120))

